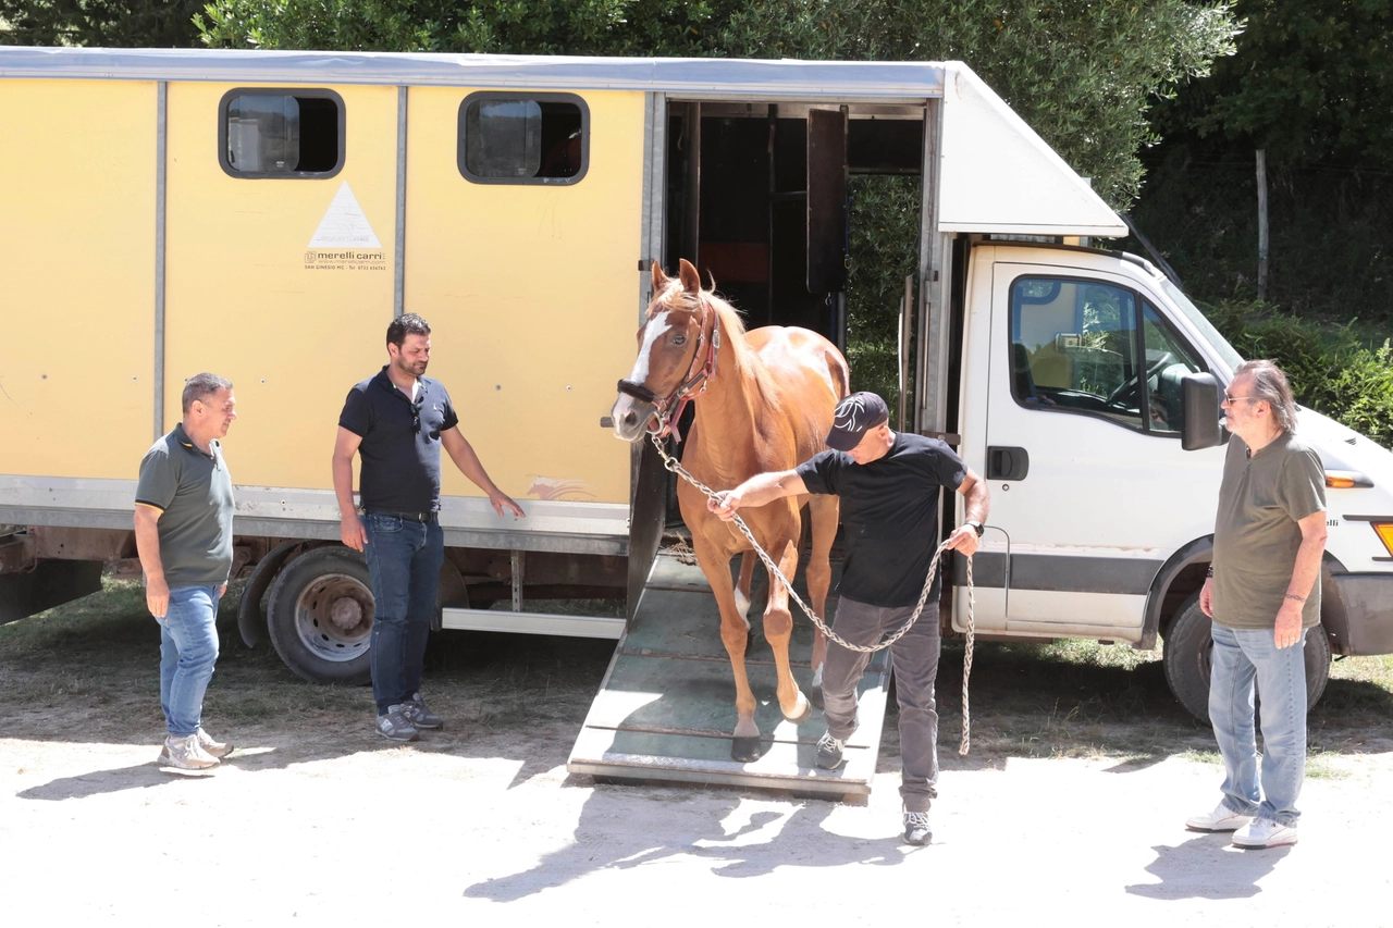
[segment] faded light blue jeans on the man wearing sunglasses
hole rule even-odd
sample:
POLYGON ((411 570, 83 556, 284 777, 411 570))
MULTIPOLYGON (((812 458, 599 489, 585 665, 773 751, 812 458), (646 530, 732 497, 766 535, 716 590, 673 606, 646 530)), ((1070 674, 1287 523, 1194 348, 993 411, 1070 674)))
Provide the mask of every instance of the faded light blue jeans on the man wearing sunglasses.
POLYGON ((1223 804, 1293 825, 1305 779, 1305 635, 1277 648, 1270 628, 1213 626, 1209 722, 1223 755, 1223 804), (1262 706, 1262 791, 1254 733, 1254 683, 1262 706))

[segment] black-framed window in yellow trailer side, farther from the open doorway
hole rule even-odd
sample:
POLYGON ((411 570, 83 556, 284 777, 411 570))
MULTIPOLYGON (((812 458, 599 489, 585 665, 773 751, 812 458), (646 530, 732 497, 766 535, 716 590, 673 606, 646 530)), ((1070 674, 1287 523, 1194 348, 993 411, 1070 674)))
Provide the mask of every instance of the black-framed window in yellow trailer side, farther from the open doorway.
POLYGON ((344 103, 333 91, 237 89, 223 96, 219 160, 241 178, 323 178, 343 167, 344 103))

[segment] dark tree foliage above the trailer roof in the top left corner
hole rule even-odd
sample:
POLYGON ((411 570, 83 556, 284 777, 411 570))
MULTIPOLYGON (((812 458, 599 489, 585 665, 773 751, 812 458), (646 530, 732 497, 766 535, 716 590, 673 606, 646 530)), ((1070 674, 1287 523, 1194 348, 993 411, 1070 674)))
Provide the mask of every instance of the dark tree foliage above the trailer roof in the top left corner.
POLYGON ((174 49, 199 45, 205 0, 0 0, 0 45, 174 49))

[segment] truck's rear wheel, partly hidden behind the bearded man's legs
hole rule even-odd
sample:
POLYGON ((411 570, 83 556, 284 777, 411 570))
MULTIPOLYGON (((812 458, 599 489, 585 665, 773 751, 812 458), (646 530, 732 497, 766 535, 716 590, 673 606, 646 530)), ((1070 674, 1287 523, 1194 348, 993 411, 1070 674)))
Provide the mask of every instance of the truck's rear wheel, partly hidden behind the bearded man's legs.
POLYGON ((276 577, 266 627, 276 654, 311 683, 372 679, 372 580, 362 555, 333 545, 291 560, 276 577))

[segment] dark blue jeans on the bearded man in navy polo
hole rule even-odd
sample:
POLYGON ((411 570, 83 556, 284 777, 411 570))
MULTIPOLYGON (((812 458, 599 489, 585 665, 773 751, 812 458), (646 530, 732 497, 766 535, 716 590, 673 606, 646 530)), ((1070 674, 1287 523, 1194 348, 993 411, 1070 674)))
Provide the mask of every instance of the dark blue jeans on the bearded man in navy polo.
POLYGON ((426 635, 435 614, 444 532, 439 523, 417 523, 368 513, 368 573, 376 601, 372 621, 372 697, 378 715, 408 701, 421 688, 426 635))

